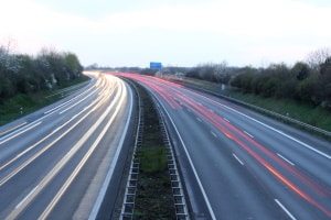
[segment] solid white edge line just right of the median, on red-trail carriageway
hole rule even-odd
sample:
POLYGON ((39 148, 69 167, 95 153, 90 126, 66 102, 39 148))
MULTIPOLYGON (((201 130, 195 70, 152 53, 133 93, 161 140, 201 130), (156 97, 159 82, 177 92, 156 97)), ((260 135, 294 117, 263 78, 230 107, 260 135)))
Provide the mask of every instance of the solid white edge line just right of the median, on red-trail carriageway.
MULTIPOLYGON (((159 98, 158 98, 157 96, 154 96, 154 97, 159 100, 159 98)), ((202 183, 201 183, 201 180, 200 180, 200 178, 199 178, 199 176, 197 176, 196 169, 195 169, 195 167, 194 167, 194 165, 193 165, 193 162, 192 162, 192 160, 191 160, 191 156, 190 156, 190 154, 189 154, 189 152, 188 152, 186 145, 184 144, 184 142, 183 142, 183 140, 182 140, 182 136, 180 135, 180 133, 179 133, 179 131, 178 131, 178 129, 177 129, 174 122, 172 121, 172 119, 171 119, 169 112, 167 111, 167 109, 164 108, 164 106, 161 103, 160 100, 159 100, 159 103, 162 106, 164 112, 168 114, 168 118, 169 118, 170 122, 172 123, 172 125, 173 125, 173 128, 174 128, 174 130, 175 130, 175 132, 177 132, 177 134, 178 134, 178 136, 179 136, 179 139, 180 139, 180 141, 181 141, 181 143, 182 143, 182 146, 183 146, 184 152, 185 152, 185 154, 186 154, 186 156, 188 156, 189 163, 190 163, 190 165, 191 165, 191 167, 192 167, 193 174, 194 174, 194 176, 195 176, 195 178, 196 178, 197 185, 199 185, 199 187, 200 187, 200 189, 201 189, 201 193, 202 193, 202 195, 203 195, 204 201, 206 202, 206 206, 207 206, 207 209, 209 209, 209 211, 210 211, 210 215, 211 215, 211 217, 212 217, 213 220, 216 220, 216 217, 215 217, 215 213, 214 213, 213 208, 212 208, 212 206, 211 206, 211 202, 210 202, 210 200, 207 199, 206 193, 205 193, 204 189, 203 189, 202 183)))

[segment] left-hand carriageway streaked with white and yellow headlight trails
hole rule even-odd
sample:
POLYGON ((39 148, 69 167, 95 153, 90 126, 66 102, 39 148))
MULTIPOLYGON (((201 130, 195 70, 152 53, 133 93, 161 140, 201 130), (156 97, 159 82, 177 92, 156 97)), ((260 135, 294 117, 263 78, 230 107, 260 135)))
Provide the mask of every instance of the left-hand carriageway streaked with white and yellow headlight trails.
POLYGON ((0 219, 95 219, 108 185, 118 191, 135 100, 117 77, 89 75, 78 92, 0 128, 0 219))

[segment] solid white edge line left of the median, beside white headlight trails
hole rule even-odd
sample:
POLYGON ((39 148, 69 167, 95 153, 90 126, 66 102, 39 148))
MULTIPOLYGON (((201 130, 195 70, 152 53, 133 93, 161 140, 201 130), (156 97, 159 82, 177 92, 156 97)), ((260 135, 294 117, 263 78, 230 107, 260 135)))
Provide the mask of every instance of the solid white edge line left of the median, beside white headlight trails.
MULTIPOLYGON (((126 88, 127 88, 127 87, 126 87, 126 88)), ((102 207, 102 202, 103 202, 103 200, 104 200, 104 198, 105 198, 105 195, 106 195, 108 185, 109 185, 109 183, 110 183, 111 176, 113 176, 113 174, 114 174, 114 169, 115 169, 115 166, 116 166, 116 164, 117 164, 117 161, 118 161, 118 157, 119 157, 119 153, 120 153, 121 147, 122 147, 122 144, 124 144, 124 142, 125 142, 125 136, 126 136, 126 133, 127 133, 128 128, 129 128, 129 122, 130 122, 130 119, 131 119, 132 106, 134 106, 134 105, 132 105, 132 102, 134 102, 132 91, 131 91, 131 89, 128 89, 128 91, 130 92, 130 98, 131 98, 131 105, 130 105, 130 110, 129 110, 130 114, 129 114, 128 120, 127 120, 127 122, 126 122, 124 135, 121 136, 121 139, 120 139, 120 141, 119 141, 119 144, 118 144, 118 147, 117 147, 117 150, 116 150, 116 152, 115 152, 115 156, 114 156, 114 160, 113 160, 113 162, 111 162, 111 164, 110 164, 108 174, 107 174, 107 176, 106 176, 106 178, 105 178, 105 182, 104 182, 104 184, 103 184, 103 186, 102 186, 102 189, 100 189, 99 195, 98 195, 98 197, 97 197, 97 199, 96 199, 96 202, 94 204, 94 207, 93 207, 93 209, 92 209, 92 212, 89 213, 88 220, 95 220, 96 217, 97 217, 97 215, 98 215, 98 211, 99 211, 99 209, 100 209, 100 207, 102 207)))

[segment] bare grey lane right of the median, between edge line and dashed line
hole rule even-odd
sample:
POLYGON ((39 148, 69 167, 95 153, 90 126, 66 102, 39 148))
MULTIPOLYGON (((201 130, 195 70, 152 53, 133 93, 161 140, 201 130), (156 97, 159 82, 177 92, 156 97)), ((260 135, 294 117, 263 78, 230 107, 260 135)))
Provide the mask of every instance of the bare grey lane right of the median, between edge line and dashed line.
POLYGON ((191 123, 194 122, 193 113, 183 114, 179 117, 181 123, 177 127, 179 131, 196 128, 193 135, 192 132, 186 132, 181 133, 181 136, 186 140, 188 152, 216 219, 282 219, 284 215, 275 211, 277 207, 274 198, 261 193, 259 183, 247 175, 245 167, 233 156, 241 155, 233 150, 235 144, 209 123, 191 123), (217 138, 210 132, 211 129, 217 138), (260 199, 256 200, 256 197, 260 199))

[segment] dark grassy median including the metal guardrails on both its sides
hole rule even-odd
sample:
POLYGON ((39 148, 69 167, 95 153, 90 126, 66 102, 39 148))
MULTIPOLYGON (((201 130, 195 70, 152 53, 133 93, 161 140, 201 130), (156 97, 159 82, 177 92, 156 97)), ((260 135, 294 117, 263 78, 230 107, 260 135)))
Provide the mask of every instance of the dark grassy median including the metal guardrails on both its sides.
POLYGON ((120 219, 188 219, 164 124, 146 89, 138 84, 134 87, 141 100, 142 129, 137 135, 142 138, 136 141, 120 219))

